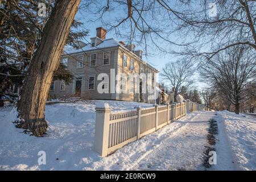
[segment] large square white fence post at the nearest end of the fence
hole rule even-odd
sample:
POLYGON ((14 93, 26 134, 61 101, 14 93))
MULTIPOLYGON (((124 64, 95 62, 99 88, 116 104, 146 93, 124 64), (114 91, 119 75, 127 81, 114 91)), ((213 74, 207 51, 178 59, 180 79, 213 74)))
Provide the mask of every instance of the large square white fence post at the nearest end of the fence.
POLYGON ((101 156, 108 155, 110 108, 107 103, 96 104, 94 150, 101 156))

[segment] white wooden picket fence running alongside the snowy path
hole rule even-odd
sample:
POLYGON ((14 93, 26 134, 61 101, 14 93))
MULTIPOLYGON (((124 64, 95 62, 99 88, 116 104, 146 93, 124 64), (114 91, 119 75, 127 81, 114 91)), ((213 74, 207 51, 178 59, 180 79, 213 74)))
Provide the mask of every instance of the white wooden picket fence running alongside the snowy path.
POLYGON ((208 110, 205 106, 189 100, 172 105, 111 112, 108 104, 96 106, 94 150, 107 156, 163 126, 196 110, 208 110))

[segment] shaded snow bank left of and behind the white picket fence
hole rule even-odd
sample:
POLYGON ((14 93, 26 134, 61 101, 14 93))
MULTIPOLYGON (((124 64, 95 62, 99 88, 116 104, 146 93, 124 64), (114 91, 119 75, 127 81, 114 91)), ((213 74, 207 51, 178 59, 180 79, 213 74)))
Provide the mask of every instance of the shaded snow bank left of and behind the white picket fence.
POLYGON ((49 127, 47 135, 41 138, 24 134, 14 126, 16 110, 13 107, 1 108, 0 170, 81 170, 100 161, 102 158, 93 150, 93 140, 95 107, 102 102, 113 111, 133 109, 137 105, 152 106, 95 100, 46 105, 49 127), (38 165, 39 151, 46 152, 46 165, 38 165))

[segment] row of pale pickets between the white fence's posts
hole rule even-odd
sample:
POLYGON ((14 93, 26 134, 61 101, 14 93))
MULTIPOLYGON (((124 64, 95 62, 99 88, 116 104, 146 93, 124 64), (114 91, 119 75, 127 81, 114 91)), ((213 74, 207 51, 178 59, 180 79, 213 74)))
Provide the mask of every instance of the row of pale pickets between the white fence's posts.
MULTIPOLYGON (((169 118, 168 121, 174 121, 185 115, 185 103, 176 104, 176 118, 175 105, 169 105, 169 118), (181 114, 180 114, 181 106, 181 114)), ((140 126, 140 137, 155 131, 156 129, 167 125, 167 105, 158 107, 158 126, 155 126, 155 114, 156 108, 149 107, 142 109, 141 111, 141 126, 140 126), (159 127, 160 126, 160 127, 159 127), (149 132, 148 132, 149 131, 149 132)), ((109 145, 111 148, 126 140, 137 137, 137 118, 138 111, 129 111, 128 113, 114 113, 110 114, 110 126, 109 126, 109 145)), ((112 150, 110 150, 112 151, 112 150)))

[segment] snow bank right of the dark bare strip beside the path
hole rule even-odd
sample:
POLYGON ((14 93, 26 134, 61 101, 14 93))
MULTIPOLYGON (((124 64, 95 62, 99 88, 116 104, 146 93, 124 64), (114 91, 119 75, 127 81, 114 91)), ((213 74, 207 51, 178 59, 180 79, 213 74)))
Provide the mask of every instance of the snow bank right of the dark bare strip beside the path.
POLYGON ((245 114, 234 114, 228 111, 218 112, 228 142, 232 149, 231 157, 241 170, 256 170, 256 118, 245 114))

